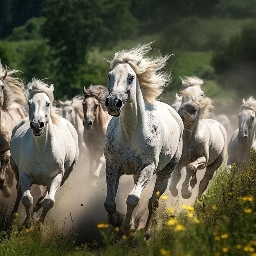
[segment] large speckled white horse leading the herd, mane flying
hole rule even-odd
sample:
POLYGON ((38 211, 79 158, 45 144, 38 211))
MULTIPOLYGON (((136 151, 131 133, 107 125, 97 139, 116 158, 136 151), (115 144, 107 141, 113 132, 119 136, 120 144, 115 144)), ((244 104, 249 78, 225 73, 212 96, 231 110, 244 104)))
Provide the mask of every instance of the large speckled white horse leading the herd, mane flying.
POLYGON ((132 212, 141 192, 156 173, 153 195, 148 202, 146 238, 158 199, 167 188, 171 173, 182 153, 182 119, 171 106, 156 101, 170 76, 159 72, 169 56, 145 57, 150 44, 138 45, 115 54, 110 62, 108 113, 114 116, 108 125, 105 144, 108 222, 129 234, 137 229, 132 212), (127 213, 117 212, 115 196, 119 178, 135 175, 135 187, 128 195, 127 213), (159 191, 159 194, 156 193, 159 191))

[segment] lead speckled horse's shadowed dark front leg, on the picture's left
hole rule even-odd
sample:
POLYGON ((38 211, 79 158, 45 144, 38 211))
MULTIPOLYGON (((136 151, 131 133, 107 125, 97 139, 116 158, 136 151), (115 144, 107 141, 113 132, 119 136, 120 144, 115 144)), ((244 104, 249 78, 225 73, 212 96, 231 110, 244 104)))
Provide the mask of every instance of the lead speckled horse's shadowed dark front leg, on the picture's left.
POLYGON ((108 212, 108 223, 113 227, 121 227, 123 218, 117 213, 115 197, 119 185, 121 175, 116 170, 115 166, 107 161, 106 164, 106 182, 107 182, 107 197, 104 207, 108 212))

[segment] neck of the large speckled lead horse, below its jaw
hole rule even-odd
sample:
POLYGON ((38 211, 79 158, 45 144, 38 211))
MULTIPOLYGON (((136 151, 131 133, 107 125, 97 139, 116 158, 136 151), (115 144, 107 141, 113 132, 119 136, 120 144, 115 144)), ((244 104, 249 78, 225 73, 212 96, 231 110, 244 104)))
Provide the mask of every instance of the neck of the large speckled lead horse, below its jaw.
POLYGON ((119 130, 124 132, 126 137, 129 137, 132 131, 137 133, 138 130, 145 128, 146 121, 145 102, 139 82, 137 82, 136 86, 133 86, 130 90, 129 99, 121 111, 119 117, 119 130))

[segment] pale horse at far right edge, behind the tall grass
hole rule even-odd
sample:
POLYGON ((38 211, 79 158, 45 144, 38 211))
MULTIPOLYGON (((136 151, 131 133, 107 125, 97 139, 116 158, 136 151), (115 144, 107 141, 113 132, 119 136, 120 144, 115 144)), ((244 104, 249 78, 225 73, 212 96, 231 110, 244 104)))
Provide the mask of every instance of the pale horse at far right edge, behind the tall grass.
POLYGON ((238 115, 238 130, 231 137, 228 146, 227 165, 236 164, 237 167, 247 168, 249 165, 249 152, 256 149, 256 100, 249 97, 243 99, 238 115))

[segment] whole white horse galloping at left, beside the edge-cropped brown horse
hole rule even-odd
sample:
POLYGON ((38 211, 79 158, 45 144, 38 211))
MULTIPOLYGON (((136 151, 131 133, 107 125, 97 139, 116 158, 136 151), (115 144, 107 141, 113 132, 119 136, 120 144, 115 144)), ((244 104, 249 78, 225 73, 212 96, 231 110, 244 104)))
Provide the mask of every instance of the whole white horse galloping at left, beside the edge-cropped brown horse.
POLYGON ((13 213, 20 199, 25 206, 25 226, 31 225, 30 193, 32 184, 46 186, 47 190, 36 204, 43 207, 39 221, 43 223, 55 201, 55 193, 73 170, 78 154, 78 136, 69 121, 57 115, 52 106, 53 85, 32 79, 28 84, 29 117, 22 119, 11 136, 11 166, 18 182, 18 193, 13 213))

